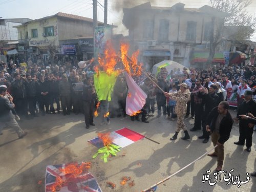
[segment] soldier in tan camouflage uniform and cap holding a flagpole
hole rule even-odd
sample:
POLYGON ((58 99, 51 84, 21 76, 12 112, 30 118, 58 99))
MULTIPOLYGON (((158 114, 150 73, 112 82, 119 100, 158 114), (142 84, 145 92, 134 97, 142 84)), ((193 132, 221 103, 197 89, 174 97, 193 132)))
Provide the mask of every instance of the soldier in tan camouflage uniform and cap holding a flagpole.
POLYGON ((184 118, 187 110, 187 102, 190 100, 190 92, 187 89, 186 83, 181 83, 178 86, 180 86, 180 90, 177 93, 164 93, 165 97, 169 97, 170 99, 176 100, 175 112, 177 114, 177 129, 175 135, 171 137, 170 140, 177 139, 178 133, 180 132, 181 129, 185 133, 185 136, 182 137, 181 139, 190 139, 184 123, 184 118))

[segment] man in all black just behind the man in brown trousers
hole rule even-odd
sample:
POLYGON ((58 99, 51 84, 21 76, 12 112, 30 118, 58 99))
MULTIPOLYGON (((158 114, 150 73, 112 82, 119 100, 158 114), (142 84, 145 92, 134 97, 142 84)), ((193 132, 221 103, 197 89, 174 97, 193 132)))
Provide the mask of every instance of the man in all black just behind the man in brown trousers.
POLYGON ((211 84, 209 91, 207 88, 203 88, 198 97, 203 98, 204 103, 204 112, 202 115, 202 127, 203 127, 203 135, 198 137, 199 139, 204 139, 203 143, 207 143, 209 141, 209 132, 206 131, 206 119, 208 114, 212 109, 214 109, 218 104, 222 101, 220 97, 216 94, 217 86, 215 84, 211 84))

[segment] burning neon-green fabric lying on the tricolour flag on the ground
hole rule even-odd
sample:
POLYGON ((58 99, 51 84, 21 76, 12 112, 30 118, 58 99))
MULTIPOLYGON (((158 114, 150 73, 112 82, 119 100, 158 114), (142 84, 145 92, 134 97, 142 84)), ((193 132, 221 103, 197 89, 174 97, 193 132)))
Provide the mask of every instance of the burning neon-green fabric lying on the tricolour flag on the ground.
POLYGON ((100 158, 104 160, 104 162, 108 162, 108 157, 110 155, 116 156, 117 152, 120 152, 119 148, 121 148, 118 145, 112 144, 112 137, 110 136, 110 133, 98 133, 99 138, 102 140, 104 147, 99 148, 98 152, 93 155, 93 158, 97 157, 100 153, 103 153, 104 155, 100 158))

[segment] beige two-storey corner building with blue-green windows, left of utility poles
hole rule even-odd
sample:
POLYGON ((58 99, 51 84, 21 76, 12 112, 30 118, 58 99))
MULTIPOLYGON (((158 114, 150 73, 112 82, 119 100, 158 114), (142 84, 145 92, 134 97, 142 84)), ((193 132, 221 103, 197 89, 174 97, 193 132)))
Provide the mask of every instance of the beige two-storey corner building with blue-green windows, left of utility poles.
MULTIPOLYGON (((103 23, 98 22, 99 26, 103 23)), ((62 55, 90 58, 93 55, 93 19, 57 13, 31 20, 17 26, 19 44, 27 47, 28 53, 49 58, 51 51, 62 55), (78 42, 86 41, 88 49, 80 49, 78 42)))

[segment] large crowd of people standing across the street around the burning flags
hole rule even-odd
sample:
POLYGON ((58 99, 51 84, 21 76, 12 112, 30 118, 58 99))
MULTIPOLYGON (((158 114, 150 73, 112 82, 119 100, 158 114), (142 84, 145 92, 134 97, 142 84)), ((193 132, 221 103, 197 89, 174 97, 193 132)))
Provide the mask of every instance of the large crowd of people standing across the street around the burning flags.
MULTIPOLYGON (((1 119, 8 111, 18 137, 22 138, 27 133, 20 129, 16 121, 61 111, 63 115, 70 115, 72 112, 84 114, 87 129, 90 125, 95 125, 93 117, 98 98, 93 82, 92 65, 80 69, 77 63, 46 65, 40 59, 32 61, 29 58, 27 62, 23 61, 18 66, 12 60, 9 63, 2 62, 0 68, 1 97, 5 97, 2 104, 6 105, 6 111, 1 107, 1 119)), ((214 154, 209 155, 218 156, 217 169, 221 169, 224 158, 223 144, 231 131, 231 128, 227 127, 230 127, 230 124, 232 127, 233 123, 232 119, 230 120, 227 102, 231 94, 237 97, 238 111, 234 120, 239 121, 240 129, 239 141, 234 144, 246 144, 246 150, 251 151, 254 124, 243 115, 256 116, 255 77, 256 67, 239 65, 225 68, 214 65, 207 70, 191 67, 170 72, 167 72, 166 68, 161 68, 156 76, 148 73, 147 77, 135 77, 136 82, 147 94, 146 103, 141 109, 141 120, 148 123, 147 117, 154 115, 157 118, 164 116, 172 121, 177 120, 175 135, 170 140, 176 140, 180 130, 185 134, 182 139, 188 140, 190 136, 184 119, 189 116, 195 119, 194 127, 190 131, 202 130, 199 139, 203 139, 203 143, 207 143, 211 135, 212 142, 218 144, 218 147, 214 154)), ((110 124, 110 118, 126 116, 127 90, 125 78, 121 73, 114 86, 112 100, 100 101, 101 124, 110 124), (108 112, 109 115, 106 115, 108 112)), ((131 120, 135 119, 139 121, 138 114, 131 117, 131 120)), ((4 118, 3 120, 6 121, 4 118)), ((3 127, 0 127, 0 133, 2 129, 3 127)))

